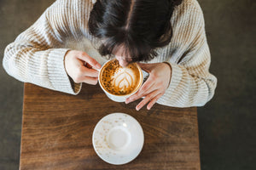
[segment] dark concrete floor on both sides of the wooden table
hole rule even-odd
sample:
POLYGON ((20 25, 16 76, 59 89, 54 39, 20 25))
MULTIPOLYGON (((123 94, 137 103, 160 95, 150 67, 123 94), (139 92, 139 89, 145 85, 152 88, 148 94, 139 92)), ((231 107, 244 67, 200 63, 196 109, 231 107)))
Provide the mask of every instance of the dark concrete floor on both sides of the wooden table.
MULTIPOLYGON (((54 0, 0 0, 4 48, 54 0)), ((256 169, 256 2, 199 0, 218 77, 212 101, 198 108, 202 170, 256 169)), ((19 168, 23 83, 0 66, 0 169, 19 168)))

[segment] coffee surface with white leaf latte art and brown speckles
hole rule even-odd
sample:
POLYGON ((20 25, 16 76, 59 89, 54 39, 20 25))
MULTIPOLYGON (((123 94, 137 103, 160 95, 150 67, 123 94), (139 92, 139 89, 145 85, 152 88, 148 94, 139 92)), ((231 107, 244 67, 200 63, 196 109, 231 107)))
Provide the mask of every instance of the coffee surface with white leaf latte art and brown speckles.
POLYGON ((131 94, 137 88, 139 80, 140 71, 136 64, 122 67, 116 59, 110 61, 102 71, 102 85, 111 94, 131 94))

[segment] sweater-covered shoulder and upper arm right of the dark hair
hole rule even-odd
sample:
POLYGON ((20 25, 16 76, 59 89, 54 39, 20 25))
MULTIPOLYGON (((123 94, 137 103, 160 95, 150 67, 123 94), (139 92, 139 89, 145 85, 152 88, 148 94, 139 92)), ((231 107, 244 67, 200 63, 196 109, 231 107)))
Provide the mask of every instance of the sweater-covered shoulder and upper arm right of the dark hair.
POLYGON ((180 59, 196 41, 205 40, 203 13, 196 0, 183 0, 174 9, 171 23, 173 35, 169 47, 172 47, 172 59, 180 59))

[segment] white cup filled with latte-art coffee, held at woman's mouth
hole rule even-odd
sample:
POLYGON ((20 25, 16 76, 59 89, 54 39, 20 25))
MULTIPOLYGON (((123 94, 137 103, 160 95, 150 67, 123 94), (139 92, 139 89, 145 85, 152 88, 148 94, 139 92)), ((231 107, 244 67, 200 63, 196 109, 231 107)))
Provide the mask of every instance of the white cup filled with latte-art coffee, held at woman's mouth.
POLYGON ((137 63, 122 67, 117 59, 111 59, 102 65, 99 84, 109 99, 124 102, 142 86, 143 71, 137 63))

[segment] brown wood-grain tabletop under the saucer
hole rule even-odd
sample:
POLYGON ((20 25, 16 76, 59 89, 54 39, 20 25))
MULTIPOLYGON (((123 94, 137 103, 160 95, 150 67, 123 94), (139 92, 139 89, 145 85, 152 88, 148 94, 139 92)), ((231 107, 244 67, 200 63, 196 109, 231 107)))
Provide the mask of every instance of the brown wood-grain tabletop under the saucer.
POLYGON ((25 83, 20 170, 200 169, 196 108, 136 111, 136 104, 113 102, 98 85, 83 84, 73 96, 25 83), (96 123, 113 112, 127 113, 143 127, 143 150, 125 165, 102 161, 92 145, 96 123))

